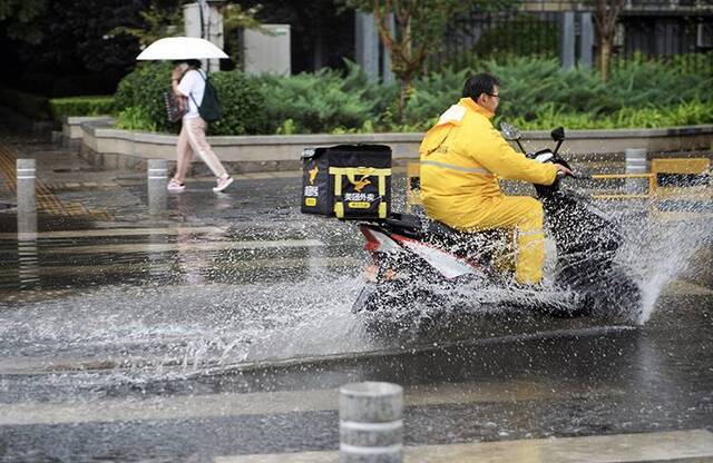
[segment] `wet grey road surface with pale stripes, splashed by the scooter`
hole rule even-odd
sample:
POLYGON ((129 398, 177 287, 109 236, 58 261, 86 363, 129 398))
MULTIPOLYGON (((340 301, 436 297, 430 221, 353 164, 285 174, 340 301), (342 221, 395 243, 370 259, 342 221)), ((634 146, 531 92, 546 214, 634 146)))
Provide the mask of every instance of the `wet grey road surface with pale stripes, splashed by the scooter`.
MULTIPOLYGON (((152 215, 140 173, 4 146, 37 158, 53 206, 22 239, 0 209, 0 461, 333 451, 335 390, 356 381, 406 387, 409 446, 713 432, 710 221, 661 223, 629 252, 645 321, 556 318, 496 292, 391 325, 351 313, 361 237, 300 214, 294 175, 221 195, 197 179, 152 215)), ((0 178, 0 203, 12 194, 0 178)))

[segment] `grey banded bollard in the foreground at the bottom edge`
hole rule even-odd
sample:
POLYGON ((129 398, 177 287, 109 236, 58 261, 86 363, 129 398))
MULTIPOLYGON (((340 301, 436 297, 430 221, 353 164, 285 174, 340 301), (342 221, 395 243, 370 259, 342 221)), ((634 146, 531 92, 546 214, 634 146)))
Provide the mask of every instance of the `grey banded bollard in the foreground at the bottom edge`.
POLYGON ((391 383, 340 387, 340 462, 403 461, 403 388, 391 383))

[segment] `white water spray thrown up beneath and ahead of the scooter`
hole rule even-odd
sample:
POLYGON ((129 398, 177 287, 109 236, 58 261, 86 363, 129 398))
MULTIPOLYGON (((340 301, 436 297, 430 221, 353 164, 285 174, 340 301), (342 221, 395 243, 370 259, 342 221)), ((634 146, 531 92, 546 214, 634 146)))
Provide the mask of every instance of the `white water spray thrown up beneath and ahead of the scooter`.
POLYGON ((563 263, 554 256, 554 242, 549 239, 549 259, 541 288, 522 290, 507 282, 492 284, 485 279, 455 285, 412 279, 383 290, 383 295, 375 298, 374 313, 367 315, 375 321, 406 319, 404 329, 411 329, 413 326, 408 323, 429 326, 443 312, 489 314, 507 312, 508 307, 515 306, 545 308, 563 315, 592 313, 615 323, 643 325, 651 318, 666 286, 681 278, 686 269, 690 272, 692 266, 701 265, 696 253, 704 246, 711 247, 713 220, 705 218, 705 210, 691 205, 676 210, 688 214, 684 220, 664 220, 663 215, 652 214, 652 205, 605 203, 597 206, 603 217, 618 225, 624 243, 612 266, 596 264, 609 259, 608 252, 570 255, 564 263, 574 265, 577 272, 586 268, 580 265, 584 262, 595 263, 593 273, 576 274, 582 287, 596 288, 593 294, 599 301, 589 304, 589 309, 586 304, 592 301, 583 299, 586 295, 557 286, 555 274, 561 272, 563 263), (423 294, 428 296, 423 297, 423 294), (406 306, 406 311, 395 312, 394 305, 406 306))

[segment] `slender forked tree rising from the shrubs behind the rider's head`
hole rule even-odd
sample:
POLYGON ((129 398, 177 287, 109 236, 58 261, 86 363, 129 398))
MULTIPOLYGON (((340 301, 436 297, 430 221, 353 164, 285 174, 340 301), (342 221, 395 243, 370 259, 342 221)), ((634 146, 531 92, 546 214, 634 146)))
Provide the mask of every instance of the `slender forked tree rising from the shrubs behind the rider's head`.
POLYGON ((449 22, 461 11, 458 0, 345 0, 349 7, 374 16, 379 38, 391 57, 391 70, 399 80, 399 120, 411 82, 421 72, 427 58, 438 52, 449 22), (393 27, 392 19, 393 18, 393 27))

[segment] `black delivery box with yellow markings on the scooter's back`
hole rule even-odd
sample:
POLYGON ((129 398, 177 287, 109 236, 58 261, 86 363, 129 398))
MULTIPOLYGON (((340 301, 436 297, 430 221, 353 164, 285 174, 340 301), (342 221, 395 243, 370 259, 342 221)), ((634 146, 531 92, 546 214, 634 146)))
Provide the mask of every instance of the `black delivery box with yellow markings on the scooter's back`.
POLYGON ((305 214, 387 218, 391 213, 391 148, 336 145, 302 151, 305 214))

